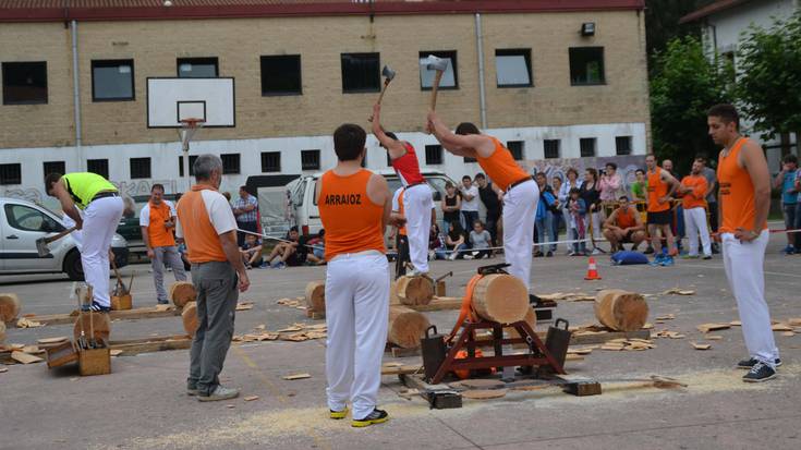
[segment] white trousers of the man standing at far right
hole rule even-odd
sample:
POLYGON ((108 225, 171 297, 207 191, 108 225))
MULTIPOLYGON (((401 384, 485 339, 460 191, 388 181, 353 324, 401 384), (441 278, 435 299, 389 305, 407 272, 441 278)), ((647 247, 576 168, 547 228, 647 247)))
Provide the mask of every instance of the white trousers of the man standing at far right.
POLYGON ((726 278, 737 300, 742 323, 742 336, 751 357, 776 368, 779 350, 770 329, 770 312, 765 302, 765 248, 767 230, 751 242, 741 243, 732 233, 723 233, 723 255, 726 278))

